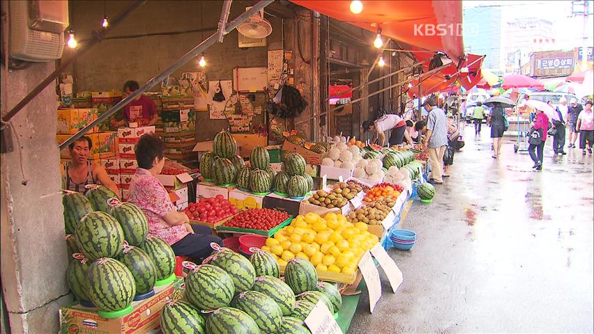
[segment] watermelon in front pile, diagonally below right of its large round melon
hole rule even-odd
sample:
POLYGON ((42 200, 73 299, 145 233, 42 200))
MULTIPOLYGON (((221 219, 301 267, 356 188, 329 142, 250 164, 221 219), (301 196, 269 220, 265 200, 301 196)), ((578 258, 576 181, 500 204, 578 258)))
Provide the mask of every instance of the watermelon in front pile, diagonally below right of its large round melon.
POLYGON ((266 294, 256 291, 242 292, 231 301, 231 307, 247 313, 264 333, 274 333, 280 327, 280 307, 266 294))

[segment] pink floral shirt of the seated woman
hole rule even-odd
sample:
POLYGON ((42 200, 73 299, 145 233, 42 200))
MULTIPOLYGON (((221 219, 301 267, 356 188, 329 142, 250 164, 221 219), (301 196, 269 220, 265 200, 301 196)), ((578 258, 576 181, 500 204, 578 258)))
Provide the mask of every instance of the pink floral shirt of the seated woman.
POLYGON ((160 237, 172 245, 188 235, 183 225, 172 226, 165 215, 176 210, 161 182, 144 168, 137 168, 130 182, 129 202, 137 205, 148 220, 148 234, 160 237))

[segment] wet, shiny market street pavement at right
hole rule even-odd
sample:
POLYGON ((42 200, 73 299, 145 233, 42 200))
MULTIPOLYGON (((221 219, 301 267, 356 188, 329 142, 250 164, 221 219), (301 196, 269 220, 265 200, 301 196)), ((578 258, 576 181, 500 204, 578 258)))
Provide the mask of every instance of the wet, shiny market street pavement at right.
POLYGON ((543 170, 506 136, 493 159, 489 128, 455 154, 434 202, 413 202, 409 251, 389 250, 404 274, 383 277, 374 314, 363 292, 349 333, 592 333, 593 156, 568 149, 543 170))

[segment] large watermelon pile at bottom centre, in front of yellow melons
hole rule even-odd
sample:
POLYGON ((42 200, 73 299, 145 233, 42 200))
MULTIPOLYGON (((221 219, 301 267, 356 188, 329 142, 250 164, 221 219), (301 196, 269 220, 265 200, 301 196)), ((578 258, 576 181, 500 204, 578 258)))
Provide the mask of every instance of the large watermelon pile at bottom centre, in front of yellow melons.
POLYGON ((185 301, 161 312, 161 331, 177 333, 310 334, 304 324, 318 301, 330 312, 342 306, 335 285, 318 282, 307 260, 289 261, 284 281, 275 258, 257 250, 250 259, 218 248, 185 278, 185 301))

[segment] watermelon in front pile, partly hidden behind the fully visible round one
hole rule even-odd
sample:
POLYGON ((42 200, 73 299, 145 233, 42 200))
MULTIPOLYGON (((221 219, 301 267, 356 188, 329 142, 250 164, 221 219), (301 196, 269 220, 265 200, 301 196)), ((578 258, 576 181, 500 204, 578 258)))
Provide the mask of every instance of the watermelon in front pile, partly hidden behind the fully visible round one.
POLYGON ((222 250, 207 260, 205 262, 208 264, 227 271, 229 276, 231 276, 231 280, 233 280, 236 294, 249 290, 254 285, 256 271, 250 260, 246 259, 243 255, 235 253, 233 250, 222 248, 222 250))

